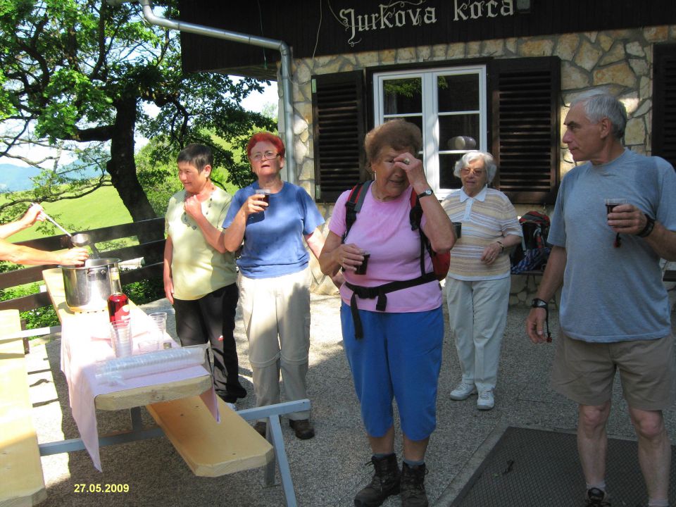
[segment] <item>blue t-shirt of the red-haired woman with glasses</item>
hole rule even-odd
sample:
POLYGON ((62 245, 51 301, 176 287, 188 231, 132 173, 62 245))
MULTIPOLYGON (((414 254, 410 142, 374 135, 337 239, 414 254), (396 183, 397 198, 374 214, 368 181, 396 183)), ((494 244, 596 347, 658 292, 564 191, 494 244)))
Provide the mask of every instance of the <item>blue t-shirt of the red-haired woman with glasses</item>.
MULTIPOLYGON (((234 220, 244 201, 258 191, 258 182, 237 191, 227 211, 223 229, 234 220)), ((237 265, 249 278, 271 278, 298 273, 310 256, 303 236, 324 223, 324 217, 305 189, 284 182, 282 190, 270 194, 270 206, 246 219, 244 248, 237 265)))

